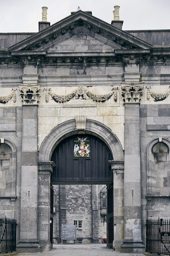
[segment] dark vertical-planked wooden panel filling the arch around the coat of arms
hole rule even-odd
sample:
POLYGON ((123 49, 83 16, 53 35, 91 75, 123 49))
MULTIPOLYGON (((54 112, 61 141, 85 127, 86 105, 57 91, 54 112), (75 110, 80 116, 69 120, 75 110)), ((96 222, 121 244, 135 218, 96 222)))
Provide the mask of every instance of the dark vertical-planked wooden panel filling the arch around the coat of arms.
POLYGON ((102 140, 89 135, 72 136, 62 141, 52 155, 51 161, 55 163, 55 168, 51 175, 51 183, 110 184, 113 182, 113 174, 108 161, 112 159, 108 146, 102 140), (76 137, 88 137, 89 157, 74 156, 76 137))

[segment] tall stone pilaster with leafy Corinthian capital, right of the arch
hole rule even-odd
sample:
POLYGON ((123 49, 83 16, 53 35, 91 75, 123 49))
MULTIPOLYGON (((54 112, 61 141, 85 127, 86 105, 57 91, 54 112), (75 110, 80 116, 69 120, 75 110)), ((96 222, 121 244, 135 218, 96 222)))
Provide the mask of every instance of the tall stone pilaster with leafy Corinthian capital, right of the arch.
POLYGON ((124 155, 124 252, 145 251, 141 240, 141 168, 139 101, 143 87, 140 83, 123 85, 125 101, 124 155))

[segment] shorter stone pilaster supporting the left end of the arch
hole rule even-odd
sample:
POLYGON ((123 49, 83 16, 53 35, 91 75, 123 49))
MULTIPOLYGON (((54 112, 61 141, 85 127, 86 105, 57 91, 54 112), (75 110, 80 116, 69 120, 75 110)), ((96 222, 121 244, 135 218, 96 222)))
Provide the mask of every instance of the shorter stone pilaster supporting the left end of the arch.
POLYGON ((42 250, 50 243, 50 182, 54 162, 38 162, 38 238, 42 250))

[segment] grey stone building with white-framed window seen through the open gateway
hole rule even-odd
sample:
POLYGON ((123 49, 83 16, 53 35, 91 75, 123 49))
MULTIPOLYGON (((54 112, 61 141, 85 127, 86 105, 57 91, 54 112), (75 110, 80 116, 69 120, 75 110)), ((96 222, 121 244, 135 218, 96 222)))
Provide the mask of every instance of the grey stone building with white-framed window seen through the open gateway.
MULTIPOLYGON (((103 239, 107 237, 106 186, 77 184, 53 185, 53 187, 56 195, 53 216, 54 243, 61 242, 62 224, 75 225, 75 222, 77 243, 103 243, 103 239), (63 200, 62 206, 60 206, 61 200, 63 200), (63 208, 66 209, 65 218, 62 215, 63 208), (96 216, 94 212, 97 212, 96 216)), ((73 238, 64 240, 64 243, 73 243, 73 238)))

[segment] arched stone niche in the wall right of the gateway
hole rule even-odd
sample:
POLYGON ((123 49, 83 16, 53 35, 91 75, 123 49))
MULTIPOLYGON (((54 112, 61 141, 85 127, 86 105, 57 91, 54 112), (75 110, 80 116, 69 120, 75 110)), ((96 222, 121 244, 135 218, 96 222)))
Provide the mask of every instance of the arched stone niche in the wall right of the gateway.
POLYGON ((168 195, 169 187, 170 141, 157 138, 147 147, 147 195, 168 195))

